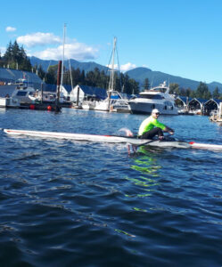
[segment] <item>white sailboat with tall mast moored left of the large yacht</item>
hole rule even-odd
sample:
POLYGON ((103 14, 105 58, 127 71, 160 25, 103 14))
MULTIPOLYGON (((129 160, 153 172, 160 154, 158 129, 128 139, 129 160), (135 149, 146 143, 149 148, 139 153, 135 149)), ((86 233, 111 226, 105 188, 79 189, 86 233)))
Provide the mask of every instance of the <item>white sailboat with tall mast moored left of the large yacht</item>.
POLYGON ((109 82, 109 87, 107 90, 107 98, 104 101, 97 101, 95 103, 95 110, 101 111, 119 111, 124 110, 123 112, 130 112, 129 105, 126 99, 123 99, 121 94, 114 90, 114 61, 115 61, 115 52, 116 52, 116 43, 117 38, 114 37, 113 49, 111 55, 111 77, 109 82))

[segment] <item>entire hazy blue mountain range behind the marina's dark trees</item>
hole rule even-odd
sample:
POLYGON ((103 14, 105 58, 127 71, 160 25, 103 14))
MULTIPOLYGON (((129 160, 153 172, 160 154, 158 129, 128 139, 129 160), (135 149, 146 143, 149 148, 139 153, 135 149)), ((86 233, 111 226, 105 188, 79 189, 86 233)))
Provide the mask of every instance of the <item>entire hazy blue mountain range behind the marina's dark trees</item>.
MULTIPOLYGON (((42 68, 46 71, 50 65, 57 65, 58 61, 44 61, 40 60, 37 57, 30 57, 29 58, 32 66, 42 66, 42 68)), ((107 72, 107 67, 97 64, 93 61, 91 62, 79 62, 75 60, 64 61, 64 66, 69 69, 69 65, 73 69, 80 69, 85 70, 85 73, 88 71, 94 70, 95 68, 100 69, 101 71, 104 70, 104 72, 107 72)), ((128 70, 125 74, 128 75, 128 77, 133 78, 136 80, 136 82, 139 83, 140 87, 143 88, 144 85, 144 79, 148 78, 150 81, 150 84, 152 86, 160 85, 164 81, 167 81, 167 83, 175 83, 178 84, 180 87, 183 88, 191 88, 192 90, 196 90, 198 85, 200 84, 200 81, 194 81, 192 79, 184 78, 184 77, 177 77, 173 76, 167 73, 163 73, 160 71, 153 71, 152 69, 148 68, 136 68, 128 70)), ((212 82, 210 84, 207 84, 210 92, 213 92, 216 87, 218 87, 219 92, 222 93, 222 84, 218 82, 212 82)))

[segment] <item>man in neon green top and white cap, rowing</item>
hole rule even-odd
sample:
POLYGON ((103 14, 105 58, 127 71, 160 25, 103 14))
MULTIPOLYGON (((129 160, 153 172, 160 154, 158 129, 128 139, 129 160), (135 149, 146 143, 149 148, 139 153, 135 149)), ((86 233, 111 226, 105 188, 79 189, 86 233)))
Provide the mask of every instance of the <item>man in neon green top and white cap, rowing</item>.
POLYGON ((167 125, 163 125, 157 119, 160 116, 160 111, 158 109, 152 109, 152 114, 150 117, 144 119, 139 127, 138 137, 141 139, 152 139, 155 135, 158 135, 159 140, 164 139, 163 132, 168 132, 169 134, 174 134, 174 130, 169 128, 167 125))

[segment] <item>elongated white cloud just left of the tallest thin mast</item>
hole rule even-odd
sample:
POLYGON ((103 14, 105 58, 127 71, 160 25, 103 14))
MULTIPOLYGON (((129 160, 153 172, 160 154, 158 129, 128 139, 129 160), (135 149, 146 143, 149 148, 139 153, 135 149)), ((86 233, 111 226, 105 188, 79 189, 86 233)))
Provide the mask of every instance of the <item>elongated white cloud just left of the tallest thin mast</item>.
POLYGON ((45 44, 61 44, 62 39, 59 36, 54 36, 52 33, 37 32, 26 36, 19 36, 17 42, 28 47, 33 47, 45 44))

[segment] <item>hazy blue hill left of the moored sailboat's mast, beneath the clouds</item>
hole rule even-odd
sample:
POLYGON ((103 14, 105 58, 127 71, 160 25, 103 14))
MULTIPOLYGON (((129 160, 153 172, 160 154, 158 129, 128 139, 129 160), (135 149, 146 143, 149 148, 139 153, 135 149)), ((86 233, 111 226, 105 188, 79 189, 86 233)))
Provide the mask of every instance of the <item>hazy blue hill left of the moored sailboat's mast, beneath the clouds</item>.
MULTIPOLYGON (((31 62, 32 66, 39 66, 41 65, 42 68, 46 71, 48 69, 49 66, 53 66, 53 65, 57 65, 58 61, 44 61, 44 60, 40 60, 36 57, 29 57, 29 60, 31 62)), ((71 66, 73 69, 80 69, 80 70, 85 70, 85 72, 89 72, 91 70, 94 70, 95 68, 98 68, 100 70, 104 70, 105 72, 107 71, 107 67, 97 64, 95 62, 79 62, 79 61, 75 61, 75 60, 70 60, 69 61, 64 61, 64 66, 69 69, 71 66)))

